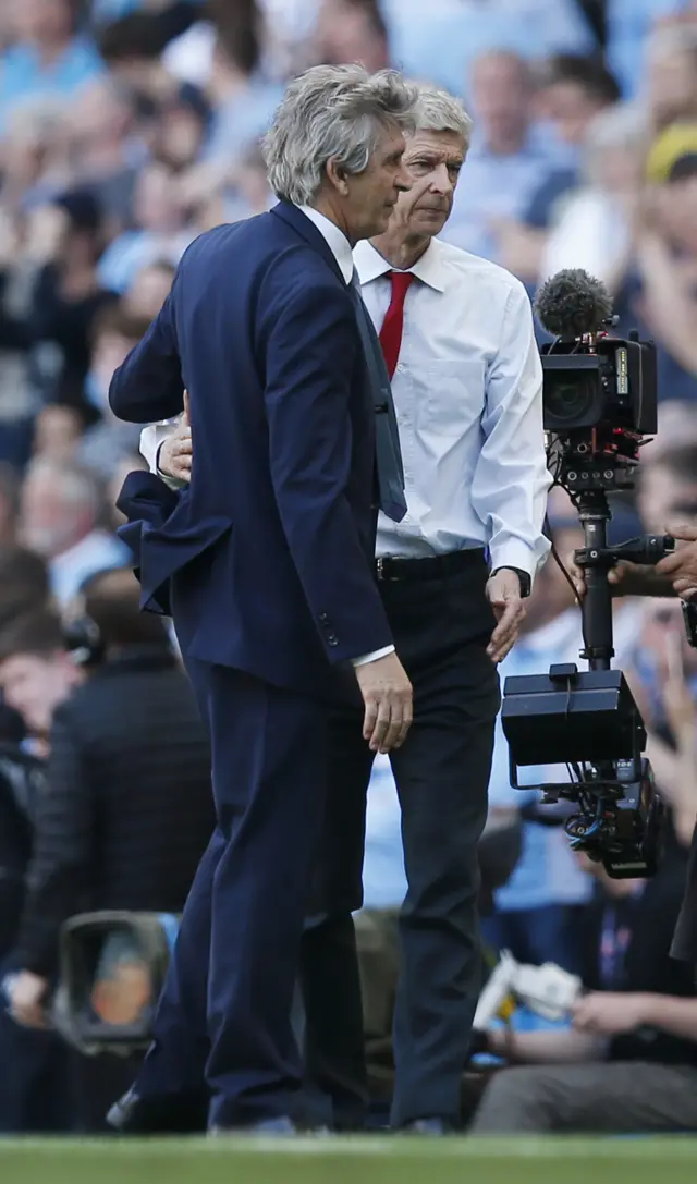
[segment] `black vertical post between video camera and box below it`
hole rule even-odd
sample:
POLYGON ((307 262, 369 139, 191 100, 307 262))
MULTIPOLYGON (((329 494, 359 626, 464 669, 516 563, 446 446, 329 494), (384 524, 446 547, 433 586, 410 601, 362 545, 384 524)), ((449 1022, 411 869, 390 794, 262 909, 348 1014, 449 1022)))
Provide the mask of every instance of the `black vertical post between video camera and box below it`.
POLYGON ((609 560, 607 523, 611 519, 607 497, 601 490, 583 493, 579 497, 579 517, 583 527, 588 561, 585 564, 586 596, 581 605, 586 648, 583 657, 592 670, 609 670, 614 656, 612 631, 612 593, 607 583, 609 560), (598 562, 594 562, 598 555, 598 562))

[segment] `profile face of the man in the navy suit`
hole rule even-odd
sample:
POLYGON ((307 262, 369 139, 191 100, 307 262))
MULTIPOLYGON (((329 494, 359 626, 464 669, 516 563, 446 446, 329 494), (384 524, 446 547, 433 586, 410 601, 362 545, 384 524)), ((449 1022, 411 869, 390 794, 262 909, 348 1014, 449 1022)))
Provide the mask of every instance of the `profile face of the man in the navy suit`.
POLYGON ((373 238, 387 230, 400 193, 411 186, 404 165, 405 137, 395 127, 385 129, 368 167, 346 175, 338 199, 350 238, 373 238))

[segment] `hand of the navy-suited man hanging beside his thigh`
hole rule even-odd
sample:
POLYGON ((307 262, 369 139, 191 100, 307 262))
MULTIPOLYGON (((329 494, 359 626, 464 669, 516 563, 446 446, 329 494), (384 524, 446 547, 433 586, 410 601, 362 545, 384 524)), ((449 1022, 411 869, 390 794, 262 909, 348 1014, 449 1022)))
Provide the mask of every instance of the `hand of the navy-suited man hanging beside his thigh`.
POLYGON ((356 667, 366 704, 363 738, 373 752, 400 748, 413 719, 412 684, 396 654, 356 667))

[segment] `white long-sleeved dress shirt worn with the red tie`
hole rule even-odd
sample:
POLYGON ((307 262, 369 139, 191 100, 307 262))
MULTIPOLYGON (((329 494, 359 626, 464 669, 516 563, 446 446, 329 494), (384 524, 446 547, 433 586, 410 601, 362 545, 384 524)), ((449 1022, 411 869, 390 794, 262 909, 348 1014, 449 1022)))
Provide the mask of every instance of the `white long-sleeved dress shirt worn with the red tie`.
MULTIPOLYGON (((354 262, 380 332, 393 270, 368 242, 354 262)), ((408 513, 381 514, 377 554, 424 556, 489 547, 491 567, 535 577, 547 469, 542 363, 530 301, 508 271, 432 239, 408 269, 402 342, 392 379, 408 513)))

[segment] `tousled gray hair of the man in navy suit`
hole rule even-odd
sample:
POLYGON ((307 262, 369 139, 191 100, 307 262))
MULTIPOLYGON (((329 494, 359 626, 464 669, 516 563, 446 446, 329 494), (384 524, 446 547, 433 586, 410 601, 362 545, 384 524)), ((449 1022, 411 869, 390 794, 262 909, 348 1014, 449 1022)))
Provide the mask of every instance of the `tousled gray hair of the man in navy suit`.
POLYGON ((380 129, 413 131, 418 89, 396 70, 370 75, 363 66, 314 66, 288 86, 264 137, 269 184, 278 198, 309 205, 333 157, 362 173, 380 129))

